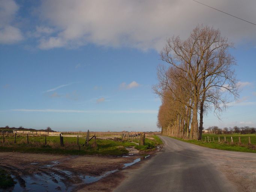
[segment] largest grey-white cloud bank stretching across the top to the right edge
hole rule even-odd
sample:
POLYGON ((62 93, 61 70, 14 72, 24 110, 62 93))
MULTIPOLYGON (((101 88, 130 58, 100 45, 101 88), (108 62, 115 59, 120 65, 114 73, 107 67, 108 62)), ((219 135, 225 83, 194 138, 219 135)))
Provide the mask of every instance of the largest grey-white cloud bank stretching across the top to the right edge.
MULTIPOLYGON (((204 0, 203 3, 248 21, 253 22, 256 17, 256 1, 204 0)), ((252 24, 187 0, 44 0, 38 10, 41 19, 58 30, 40 39, 41 49, 94 43, 160 50, 167 37, 187 37, 201 23, 219 28, 235 42, 256 40, 252 24)))

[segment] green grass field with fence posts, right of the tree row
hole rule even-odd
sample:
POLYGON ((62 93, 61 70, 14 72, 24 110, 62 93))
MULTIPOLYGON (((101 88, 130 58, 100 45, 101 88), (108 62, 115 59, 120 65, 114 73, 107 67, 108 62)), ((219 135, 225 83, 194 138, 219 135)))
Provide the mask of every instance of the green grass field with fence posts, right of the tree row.
POLYGON ((256 153, 256 135, 255 134, 232 134, 232 135, 214 135, 214 134, 203 134, 202 140, 190 140, 175 138, 181 141, 189 142, 192 144, 200 145, 203 147, 216 148, 227 151, 240 151, 256 153), (211 137, 211 142, 208 142, 208 136, 211 137), (220 143, 218 142, 218 136, 220 136, 220 143), (224 136, 226 136, 226 142, 224 142, 224 136), (231 136, 233 138, 233 144, 231 143, 231 136), (248 137, 251 138, 251 145, 248 144, 248 137), (241 144, 239 144, 238 138, 241 137, 241 144), (214 142, 213 139, 214 138, 214 142), (206 139, 206 141, 205 141, 206 139))

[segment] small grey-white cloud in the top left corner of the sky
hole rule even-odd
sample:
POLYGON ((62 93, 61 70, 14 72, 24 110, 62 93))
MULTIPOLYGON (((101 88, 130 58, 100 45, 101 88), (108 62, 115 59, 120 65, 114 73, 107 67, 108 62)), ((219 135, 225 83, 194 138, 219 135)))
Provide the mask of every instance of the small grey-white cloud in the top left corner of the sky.
POLYGON ((13 0, 0 0, 0 43, 12 44, 23 40, 21 30, 13 25, 19 7, 13 0))

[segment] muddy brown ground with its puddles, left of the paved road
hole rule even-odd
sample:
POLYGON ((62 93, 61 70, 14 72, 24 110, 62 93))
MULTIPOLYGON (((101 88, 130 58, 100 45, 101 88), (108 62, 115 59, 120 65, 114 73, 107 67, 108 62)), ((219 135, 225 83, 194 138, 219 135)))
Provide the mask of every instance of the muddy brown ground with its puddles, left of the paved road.
POLYGON ((0 168, 17 181, 15 187, 7 191, 76 191, 140 157, 140 154, 116 157, 0 152, 0 168), (43 183, 45 180, 47 184, 43 183), (36 186, 42 189, 36 190, 36 186))

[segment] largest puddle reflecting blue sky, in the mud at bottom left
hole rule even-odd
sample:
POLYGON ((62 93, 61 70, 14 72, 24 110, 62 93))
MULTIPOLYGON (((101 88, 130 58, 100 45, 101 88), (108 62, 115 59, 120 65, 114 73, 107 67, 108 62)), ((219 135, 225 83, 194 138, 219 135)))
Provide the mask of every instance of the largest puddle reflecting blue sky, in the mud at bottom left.
POLYGON ((44 173, 35 174, 33 176, 24 176, 22 177, 26 182, 25 186, 20 184, 16 178, 14 180, 17 184, 14 186, 12 191, 14 192, 27 192, 27 191, 36 191, 36 192, 46 192, 46 191, 71 191, 73 186, 66 186, 64 183, 64 178, 60 175, 47 175, 44 173))

